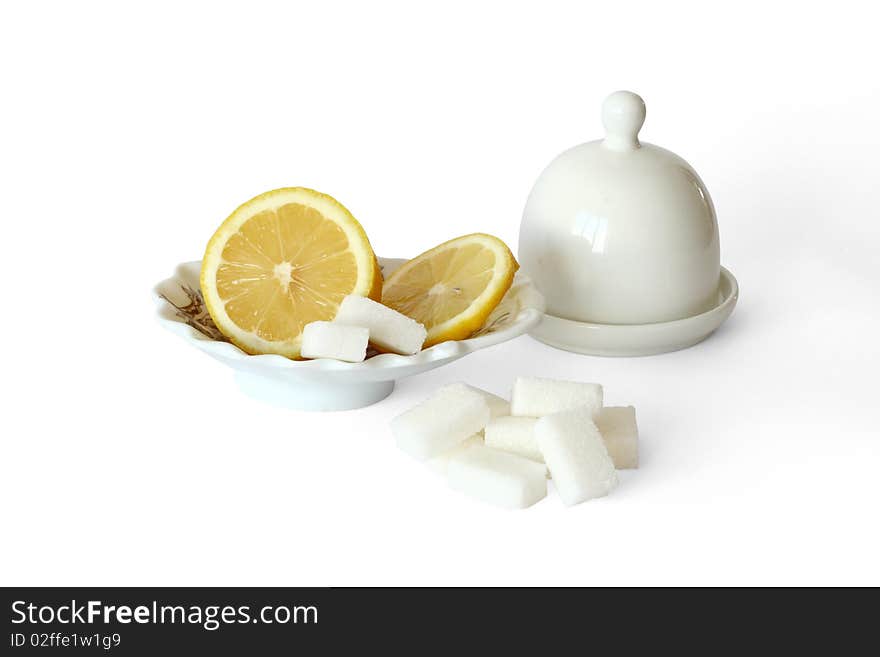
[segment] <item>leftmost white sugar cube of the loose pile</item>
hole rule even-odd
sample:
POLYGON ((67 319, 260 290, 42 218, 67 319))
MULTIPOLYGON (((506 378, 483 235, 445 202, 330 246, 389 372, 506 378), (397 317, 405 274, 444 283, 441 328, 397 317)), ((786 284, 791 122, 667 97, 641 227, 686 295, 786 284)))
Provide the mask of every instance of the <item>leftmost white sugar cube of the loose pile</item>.
POLYGON ((489 423, 489 405, 467 386, 446 386, 391 421, 397 446, 424 461, 452 449, 489 423))

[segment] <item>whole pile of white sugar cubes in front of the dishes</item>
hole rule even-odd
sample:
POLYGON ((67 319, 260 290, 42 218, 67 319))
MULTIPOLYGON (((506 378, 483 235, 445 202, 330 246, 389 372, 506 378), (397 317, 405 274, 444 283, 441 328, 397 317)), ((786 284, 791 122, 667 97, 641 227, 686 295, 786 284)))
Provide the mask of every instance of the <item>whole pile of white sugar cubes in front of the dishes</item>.
POLYGON ((425 461, 449 486, 508 509, 547 494, 547 475, 563 504, 602 497, 617 469, 638 467, 632 406, 603 407, 596 383, 516 379, 512 401, 454 383, 391 422, 398 446, 425 461))

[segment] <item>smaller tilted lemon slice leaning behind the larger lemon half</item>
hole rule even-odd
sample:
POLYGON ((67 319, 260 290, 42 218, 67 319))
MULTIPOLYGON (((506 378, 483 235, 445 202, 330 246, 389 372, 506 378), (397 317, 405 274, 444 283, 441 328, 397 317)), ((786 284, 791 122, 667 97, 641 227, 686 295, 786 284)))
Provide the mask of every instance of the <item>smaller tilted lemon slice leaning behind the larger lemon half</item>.
POLYGON ((395 271, 382 303, 428 329, 425 348, 479 329, 513 283, 519 265, 497 237, 474 233, 435 246, 395 271))

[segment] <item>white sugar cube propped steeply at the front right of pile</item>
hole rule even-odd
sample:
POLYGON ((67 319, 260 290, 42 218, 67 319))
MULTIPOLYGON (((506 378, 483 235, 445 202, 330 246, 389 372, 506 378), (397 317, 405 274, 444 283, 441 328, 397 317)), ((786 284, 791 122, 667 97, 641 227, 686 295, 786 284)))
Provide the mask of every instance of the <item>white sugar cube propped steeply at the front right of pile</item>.
POLYGON ((535 423, 535 437, 567 506, 607 495, 617 485, 614 462, 590 407, 545 415, 535 423))

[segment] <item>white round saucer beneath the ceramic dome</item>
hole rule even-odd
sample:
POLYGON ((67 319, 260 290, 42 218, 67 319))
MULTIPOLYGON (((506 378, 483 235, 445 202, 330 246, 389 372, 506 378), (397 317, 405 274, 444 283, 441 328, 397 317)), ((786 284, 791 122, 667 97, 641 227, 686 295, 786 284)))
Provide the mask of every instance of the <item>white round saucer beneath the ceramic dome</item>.
POLYGON ((705 340, 730 317, 738 298, 736 278, 722 267, 718 304, 699 315, 657 324, 591 324, 545 314, 529 335, 551 347, 592 356, 662 354, 705 340))

